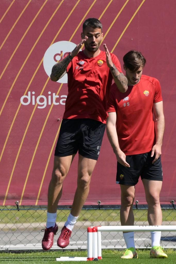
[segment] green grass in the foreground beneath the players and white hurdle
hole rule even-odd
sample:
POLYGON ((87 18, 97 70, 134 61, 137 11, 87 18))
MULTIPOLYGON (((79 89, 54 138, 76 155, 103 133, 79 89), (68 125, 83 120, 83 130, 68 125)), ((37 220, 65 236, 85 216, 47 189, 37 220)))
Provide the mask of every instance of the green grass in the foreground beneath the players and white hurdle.
MULTIPOLYGON (((168 255, 167 259, 151 259, 149 258, 149 250, 138 250, 138 259, 123 260, 120 258, 122 256, 122 251, 114 251, 104 249, 102 251, 103 259, 99 261, 102 264, 113 264, 113 263, 137 263, 137 264, 148 264, 148 263, 176 263, 176 251, 172 249, 166 249, 165 253, 168 255)), ((70 252, 70 251, 54 251, 54 252, 33 252, 33 253, 0 253, 0 263, 3 264, 53 264, 53 263, 87 263, 85 261, 73 262, 73 261, 64 261, 56 262, 56 257, 61 256, 77 256, 77 257, 86 257, 87 252, 70 252)), ((92 263, 92 262, 89 262, 92 263)))

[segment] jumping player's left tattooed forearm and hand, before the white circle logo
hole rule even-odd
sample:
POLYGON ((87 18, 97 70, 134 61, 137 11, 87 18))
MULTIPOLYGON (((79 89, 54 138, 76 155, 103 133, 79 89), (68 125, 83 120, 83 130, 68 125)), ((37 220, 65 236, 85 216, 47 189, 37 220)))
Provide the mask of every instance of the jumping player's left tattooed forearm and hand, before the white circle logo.
POLYGON ((73 57, 75 57, 82 44, 84 44, 84 42, 88 39, 87 36, 84 37, 84 39, 81 40, 81 42, 76 46, 76 48, 74 48, 74 50, 72 52, 69 53, 68 56, 66 56, 63 60, 61 60, 60 62, 56 63, 51 71, 51 81, 57 82, 61 77, 64 76, 64 74, 66 73, 66 68, 68 66, 68 64, 71 62, 71 60, 73 59, 73 57))

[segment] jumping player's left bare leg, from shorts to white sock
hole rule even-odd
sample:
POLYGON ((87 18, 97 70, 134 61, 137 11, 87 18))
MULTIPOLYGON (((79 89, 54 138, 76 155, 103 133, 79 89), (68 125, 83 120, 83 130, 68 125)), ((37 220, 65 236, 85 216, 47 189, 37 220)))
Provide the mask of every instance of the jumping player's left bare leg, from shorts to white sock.
POLYGON ((54 168, 48 187, 48 213, 56 213, 62 195, 62 183, 69 171, 74 155, 54 157, 54 168))

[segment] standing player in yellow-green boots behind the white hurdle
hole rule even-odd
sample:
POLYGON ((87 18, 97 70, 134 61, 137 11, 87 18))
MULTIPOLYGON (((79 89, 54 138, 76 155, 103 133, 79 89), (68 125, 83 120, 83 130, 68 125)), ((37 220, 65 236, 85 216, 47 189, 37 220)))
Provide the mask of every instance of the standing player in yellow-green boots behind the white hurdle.
MULTIPOLYGON (((161 87, 157 79, 142 75, 146 60, 139 51, 129 51, 123 62, 128 90, 122 94, 112 85, 107 119, 107 135, 117 157, 116 183, 121 187, 121 225, 134 225, 132 207, 140 176, 148 203, 149 225, 161 225, 160 155, 164 133, 161 87)), ((137 258, 134 232, 125 232, 123 237, 127 249, 121 258, 137 258)), ((161 232, 151 232, 152 258, 167 258, 160 247, 160 238, 161 232)))

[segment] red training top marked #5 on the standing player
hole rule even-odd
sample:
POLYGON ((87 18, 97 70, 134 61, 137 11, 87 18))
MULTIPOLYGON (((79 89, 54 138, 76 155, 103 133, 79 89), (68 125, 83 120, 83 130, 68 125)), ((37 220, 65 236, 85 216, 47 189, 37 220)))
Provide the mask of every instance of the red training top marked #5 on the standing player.
POLYGON ((116 112, 116 129, 120 149, 125 155, 151 151, 155 144, 153 103, 162 101, 157 79, 142 75, 139 83, 120 93, 113 84, 108 112, 116 112))

